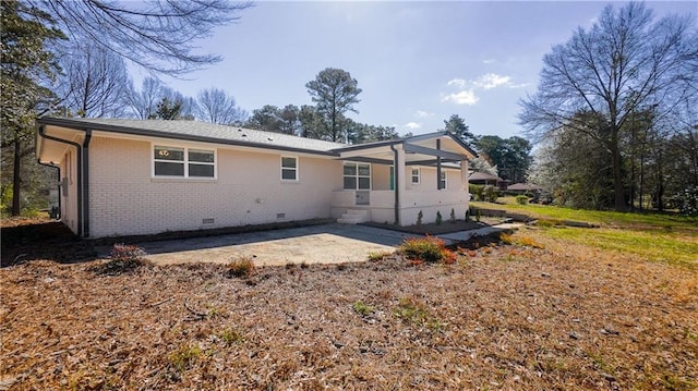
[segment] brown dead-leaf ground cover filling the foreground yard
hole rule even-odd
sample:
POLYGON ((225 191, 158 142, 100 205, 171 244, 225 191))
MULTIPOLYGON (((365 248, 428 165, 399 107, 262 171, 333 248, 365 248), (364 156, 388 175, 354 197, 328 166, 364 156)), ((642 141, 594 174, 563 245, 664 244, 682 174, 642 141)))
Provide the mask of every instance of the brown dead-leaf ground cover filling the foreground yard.
MULTIPOLYGON (((0 270, 11 390, 698 387, 698 274, 526 229, 453 265, 0 270)), ((2 388, 0 387, 0 388, 2 388)))

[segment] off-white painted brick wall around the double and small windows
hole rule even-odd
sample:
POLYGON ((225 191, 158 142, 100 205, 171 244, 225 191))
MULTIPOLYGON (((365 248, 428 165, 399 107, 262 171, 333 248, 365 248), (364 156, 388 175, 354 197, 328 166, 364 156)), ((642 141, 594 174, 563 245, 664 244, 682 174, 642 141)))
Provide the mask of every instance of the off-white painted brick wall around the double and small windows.
POLYGON ((217 148, 216 180, 156 179, 151 149, 149 142, 92 139, 91 237, 329 218, 332 192, 341 188, 340 161, 234 147, 217 148), (298 182, 280 180, 281 156, 298 157, 298 182))

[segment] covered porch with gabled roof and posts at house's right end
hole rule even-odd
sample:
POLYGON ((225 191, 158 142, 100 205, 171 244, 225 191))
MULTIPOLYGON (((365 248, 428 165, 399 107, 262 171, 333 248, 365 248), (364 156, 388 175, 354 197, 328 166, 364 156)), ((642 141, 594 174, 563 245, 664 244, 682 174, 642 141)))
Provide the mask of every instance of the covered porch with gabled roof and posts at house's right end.
POLYGON ((474 151, 448 132, 337 150, 344 188, 333 193, 333 217, 344 222, 411 225, 457 219, 469 207, 468 159, 474 151))

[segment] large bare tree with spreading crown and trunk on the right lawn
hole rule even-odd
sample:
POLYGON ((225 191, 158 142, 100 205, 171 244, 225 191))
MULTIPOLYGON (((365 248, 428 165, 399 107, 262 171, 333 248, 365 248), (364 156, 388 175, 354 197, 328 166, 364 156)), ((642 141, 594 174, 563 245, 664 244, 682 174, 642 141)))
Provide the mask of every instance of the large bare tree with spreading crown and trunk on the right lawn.
POLYGON ((698 35, 689 17, 653 23, 643 3, 615 10, 577 29, 543 58, 538 91, 522 100, 521 124, 538 139, 571 129, 599 142, 609 152, 614 206, 626 210, 621 139, 634 112, 655 106, 671 115, 696 99, 698 35))

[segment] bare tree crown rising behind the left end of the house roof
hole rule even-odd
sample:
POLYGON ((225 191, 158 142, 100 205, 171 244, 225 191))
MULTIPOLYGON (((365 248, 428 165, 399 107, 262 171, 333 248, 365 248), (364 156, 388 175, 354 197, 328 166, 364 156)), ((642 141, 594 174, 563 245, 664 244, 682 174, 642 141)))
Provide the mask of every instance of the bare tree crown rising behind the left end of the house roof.
POLYGON ((79 117, 122 117, 130 78, 121 57, 103 47, 79 45, 61 60, 58 94, 79 117))

